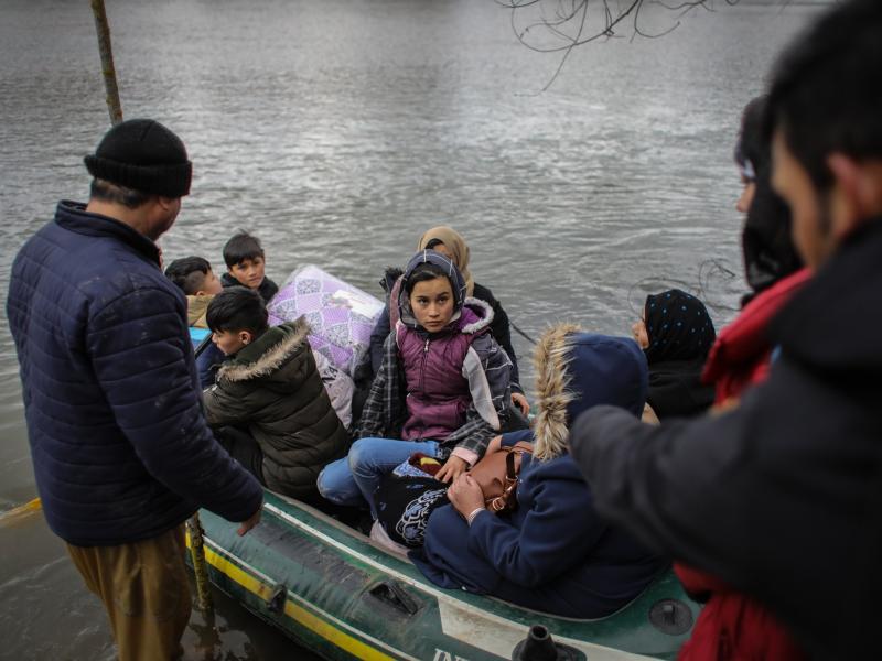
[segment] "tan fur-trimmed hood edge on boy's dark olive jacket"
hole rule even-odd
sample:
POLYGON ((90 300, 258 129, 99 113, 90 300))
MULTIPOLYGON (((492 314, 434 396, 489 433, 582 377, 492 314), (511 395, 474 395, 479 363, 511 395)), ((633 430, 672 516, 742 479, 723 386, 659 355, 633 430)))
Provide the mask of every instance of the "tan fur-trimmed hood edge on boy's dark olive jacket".
POLYGON ((304 317, 267 329, 254 344, 243 348, 217 371, 217 379, 229 382, 249 381, 273 376, 291 358, 309 348, 312 332, 304 317))

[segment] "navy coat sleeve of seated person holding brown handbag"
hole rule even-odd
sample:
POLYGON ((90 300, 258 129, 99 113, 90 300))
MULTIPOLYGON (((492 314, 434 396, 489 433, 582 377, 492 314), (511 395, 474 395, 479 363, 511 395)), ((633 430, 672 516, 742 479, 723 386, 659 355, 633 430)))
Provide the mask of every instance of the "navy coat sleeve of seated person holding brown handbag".
POLYGON ((606 530, 587 506, 588 490, 576 479, 538 480, 533 509, 520 528, 490 512, 469 529, 469 548, 516 585, 537 587, 584 562, 606 530))

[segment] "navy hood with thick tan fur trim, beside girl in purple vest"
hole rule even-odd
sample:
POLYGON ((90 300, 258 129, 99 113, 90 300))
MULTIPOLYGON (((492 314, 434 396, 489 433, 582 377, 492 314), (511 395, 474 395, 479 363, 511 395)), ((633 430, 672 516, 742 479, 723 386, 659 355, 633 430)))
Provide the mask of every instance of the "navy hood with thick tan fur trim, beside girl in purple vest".
POLYGON ((598 404, 627 409, 639 416, 646 402, 648 367, 630 337, 584 333, 559 324, 542 334, 533 355, 537 412, 534 425, 539 459, 568 451, 569 427, 598 404))

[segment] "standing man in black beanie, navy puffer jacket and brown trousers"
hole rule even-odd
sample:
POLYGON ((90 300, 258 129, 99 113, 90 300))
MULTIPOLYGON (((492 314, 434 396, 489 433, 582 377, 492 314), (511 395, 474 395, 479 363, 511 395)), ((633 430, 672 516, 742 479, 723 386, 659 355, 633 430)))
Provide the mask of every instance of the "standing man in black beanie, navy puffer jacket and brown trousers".
POLYGON ((130 120, 85 161, 88 205, 61 202, 21 249, 7 314, 50 528, 120 659, 170 659, 190 618, 183 521, 205 507, 245 534, 262 490, 205 423, 186 301, 160 270, 154 241, 190 191, 183 143, 130 120))

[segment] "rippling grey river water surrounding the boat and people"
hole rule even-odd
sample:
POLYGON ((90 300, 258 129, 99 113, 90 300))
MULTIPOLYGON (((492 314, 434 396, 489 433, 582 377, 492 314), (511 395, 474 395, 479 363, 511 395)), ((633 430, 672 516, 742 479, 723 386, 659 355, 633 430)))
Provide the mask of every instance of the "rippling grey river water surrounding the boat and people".
MULTIPOLYGON (((627 333, 646 293, 702 295, 718 326, 743 291, 732 145, 741 108, 817 6, 719 1, 663 39, 559 55, 519 45, 491 0, 108 0, 127 117, 185 140, 193 194, 166 259, 222 267, 237 229, 282 281, 316 263, 377 295, 422 230, 447 223, 472 272, 537 335, 553 321, 627 333)), ((673 25, 660 8, 646 28, 673 25)), ((0 290, 60 198, 85 199, 82 156, 108 128, 87 2, 0 4, 0 290)), ((515 346, 527 366, 529 344, 515 346)), ((6 316, 0 512, 36 495, 6 316)), ((0 523, 0 658, 111 659, 88 595, 42 516, 0 523)), ((305 658, 220 602, 194 615, 190 659, 305 658)))

